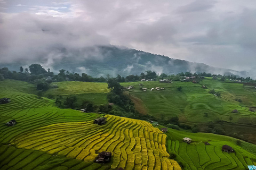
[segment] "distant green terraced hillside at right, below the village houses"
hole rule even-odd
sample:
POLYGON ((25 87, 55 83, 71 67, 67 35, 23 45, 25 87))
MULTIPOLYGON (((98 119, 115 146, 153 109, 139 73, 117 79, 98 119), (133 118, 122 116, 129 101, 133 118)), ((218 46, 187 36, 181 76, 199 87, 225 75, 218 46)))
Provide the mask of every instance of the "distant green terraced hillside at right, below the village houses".
MULTIPOLYGON (((204 83, 207 81, 214 80, 203 80, 201 82, 204 83)), ((229 84, 229 87, 234 85, 234 89, 238 87, 236 83, 223 84, 229 84)), ((200 84, 194 84, 192 82, 159 83, 153 81, 122 83, 122 85, 124 87, 133 85, 134 88, 130 90, 130 94, 140 98, 147 107, 148 113, 156 117, 164 115, 169 118, 176 115, 184 115, 187 121, 205 122, 204 113, 206 112, 209 113, 207 121, 214 121, 216 117, 224 121, 229 121, 229 117, 233 116, 233 122, 237 122, 241 117, 250 117, 250 123, 256 124, 256 114, 250 112, 249 108, 239 105, 235 100, 231 101, 224 97, 209 94, 208 90, 201 88, 202 85, 200 84), (138 86, 139 83, 143 84, 143 88, 164 87, 165 90, 142 91, 140 90, 140 86, 138 86), (179 86, 182 87, 181 91, 177 89, 179 86), (231 113, 234 109, 237 109, 239 114, 231 113)), ((238 85, 239 88, 241 88, 241 85, 243 86, 243 84, 238 85)), ((230 89, 232 90, 233 88, 230 89)), ((252 92, 248 90, 247 93, 251 93, 251 96, 253 96, 252 92)), ((255 95, 253 97, 256 99, 255 95)))

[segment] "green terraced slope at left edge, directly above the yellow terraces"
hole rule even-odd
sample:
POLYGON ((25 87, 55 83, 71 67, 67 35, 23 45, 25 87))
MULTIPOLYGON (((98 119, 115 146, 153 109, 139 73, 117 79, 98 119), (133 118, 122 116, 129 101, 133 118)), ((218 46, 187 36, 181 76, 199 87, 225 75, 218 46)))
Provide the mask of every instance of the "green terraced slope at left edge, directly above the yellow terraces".
MULTIPOLYGON (((38 99, 35 95, 26 94, 27 89, 23 88, 27 86, 26 82, 14 81, 18 84, 14 89, 10 86, 10 82, 13 83, 9 80, 0 82, 0 98, 11 98, 10 103, 0 105, 0 142, 8 142, 15 135, 40 126, 59 122, 86 121, 98 117, 93 113, 85 114, 72 109, 59 109, 53 106, 54 103, 51 100, 38 99), (6 82, 9 86, 5 84, 6 82), (5 123, 13 119, 17 124, 7 127, 5 123)), ((31 86, 30 91, 34 90, 35 87, 31 86)))

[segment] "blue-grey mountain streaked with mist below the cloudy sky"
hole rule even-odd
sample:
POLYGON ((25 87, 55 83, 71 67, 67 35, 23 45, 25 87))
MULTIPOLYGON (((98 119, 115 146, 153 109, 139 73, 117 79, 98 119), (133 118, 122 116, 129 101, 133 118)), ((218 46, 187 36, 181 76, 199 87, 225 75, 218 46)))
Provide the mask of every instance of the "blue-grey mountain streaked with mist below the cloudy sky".
POLYGON ((82 49, 60 48, 53 57, 42 58, 39 61, 19 61, 13 63, 1 63, 0 67, 9 67, 17 70, 19 66, 28 66, 39 63, 45 69, 50 67, 51 71, 58 72, 61 69, 70 72, 86 73, 92 77, 105 77, 110 74, 127 76, 129 74, 140 74, 146 70, 156 73, 177 74, 180 72, 207 72, 212 74, 235 74, 247 77, 245 71, 235 71, 212 67, 203 63, 177 60, 163 55, 151 54, 141 50, 130 49, 122 46, 91 46, 82 49))

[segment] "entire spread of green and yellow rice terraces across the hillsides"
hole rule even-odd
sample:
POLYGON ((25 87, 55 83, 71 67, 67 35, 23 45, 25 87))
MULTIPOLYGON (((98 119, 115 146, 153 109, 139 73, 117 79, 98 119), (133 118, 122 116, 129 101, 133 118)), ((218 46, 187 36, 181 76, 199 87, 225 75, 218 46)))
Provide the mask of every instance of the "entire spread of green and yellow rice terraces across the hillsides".
MULTIPOLYGON (((232 123, 238 128, 247 124, 247 128, 255 130, 256 116, 249 108, 255 107, 256 90, 250 86, 205 79, 196 84, 142 82, 143 88, 165 88, 142 91, 139 83, 122 83, 122 86, 134 86, 127 93, 134 101, 140 101, 140 109, 146 114, 177 115, 183 123, 207 123, 217 117, 230 122, 232 116, 232 123), (221 97, 209 94, 210 89, 221 91, 221 97), (237 98, 242 102, 236 101, 237 98), (232 113, 234 109, 239 113, 232 113), (209 116, 205 117, 205 112, 209 116)), ((76 95, 80 100, 107 103, 107 83, 53 84, 58 84, 58 88, 51 88, 44 95, 76 95)), ((238 170, 256 165, 256 146, 245 141, 238 146, 237 139, 223 135, 173 129, 163 133, 162 126, 156 128, 146 121, 61 109, 55 106, 54 100, 38 98, 36 94, 34 84, 15 80, 0 82, 0 98, 11 99, 10 103, 0 105, 0 169, 238 170), (106 124, 94 124, 95 118, 101 116, 107 118, 106 124), (5 125, 13 119, 17 124, 5 125), (182 141, 185 137, 192 139, 190 145, 182 141), (222 151, 223 145, 233 147, 235 152, 222 151), (102 151, 111 152, 109 163, 95 163, 102 151)), ((250 134, 250 139, 255 140, 255 132, 250 134)))

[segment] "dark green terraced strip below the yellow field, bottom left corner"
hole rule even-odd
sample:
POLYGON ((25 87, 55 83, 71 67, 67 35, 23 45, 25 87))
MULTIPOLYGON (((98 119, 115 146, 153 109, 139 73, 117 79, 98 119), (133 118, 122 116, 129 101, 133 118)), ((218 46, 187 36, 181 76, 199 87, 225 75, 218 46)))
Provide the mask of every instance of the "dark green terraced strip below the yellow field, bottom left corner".
POLYGON ((83 162, 57 155, 46 154, 42 151, 17 149, 13 146, 0 146, 0 169, 23 170, 105 170, 109 165, 83 162))

